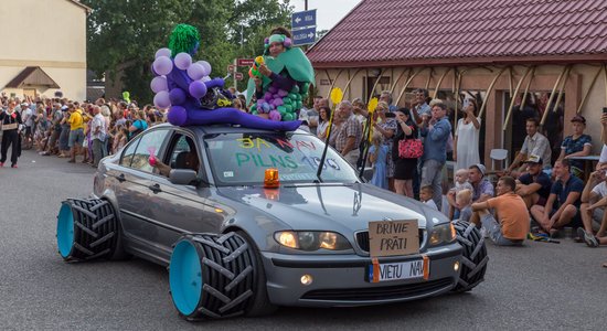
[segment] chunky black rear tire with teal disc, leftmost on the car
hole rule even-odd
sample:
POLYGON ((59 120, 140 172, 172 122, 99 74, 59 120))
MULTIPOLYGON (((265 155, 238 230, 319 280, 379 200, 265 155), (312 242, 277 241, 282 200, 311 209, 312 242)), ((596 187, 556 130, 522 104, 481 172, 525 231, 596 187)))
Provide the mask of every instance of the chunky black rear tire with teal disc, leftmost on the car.
POLYGON ((62 203, 57 215, 57 243, 60 255, 66 261, 85 261, 111 258, 117 252, 119 223, 114 207, 106 200, 100 199, 67 199, 62 203), (63 226, 65 222, 64 209, 71 211, 71 226, 63 226), (72 243, 65 235, 73 232, 72 243), (63 245, 62 245, 63 244, 63 245), (63 249, 62 249, 63 247, 63 249))

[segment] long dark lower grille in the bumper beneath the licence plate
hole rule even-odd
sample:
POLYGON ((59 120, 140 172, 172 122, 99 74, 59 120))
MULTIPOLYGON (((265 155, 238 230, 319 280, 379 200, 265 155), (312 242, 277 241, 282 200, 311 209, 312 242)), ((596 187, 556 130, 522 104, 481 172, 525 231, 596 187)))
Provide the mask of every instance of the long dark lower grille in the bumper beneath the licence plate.
POLYGON ((349 289, 320 289, 303 295, 301 299, 326 301, 370 301, 388 300, 407 297, 417 297, 432 293, 452 286, 452 278, 440 278, 430 281, 406 284, 398 286, 349 288, 349 289))

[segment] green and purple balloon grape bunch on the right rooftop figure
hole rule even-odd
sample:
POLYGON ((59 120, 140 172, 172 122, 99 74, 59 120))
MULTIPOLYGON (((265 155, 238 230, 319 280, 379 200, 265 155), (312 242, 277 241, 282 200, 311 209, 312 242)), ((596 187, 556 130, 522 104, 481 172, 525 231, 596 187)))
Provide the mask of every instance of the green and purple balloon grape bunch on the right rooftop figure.
POLYGON ((264 97, 251 107, 251 113, 268 114, 273 120, 295 120, 297 110, 301 109, 302 100, 308 96, 308 83, 301 88, 296 84, 290 92, 270 85, 264 97))

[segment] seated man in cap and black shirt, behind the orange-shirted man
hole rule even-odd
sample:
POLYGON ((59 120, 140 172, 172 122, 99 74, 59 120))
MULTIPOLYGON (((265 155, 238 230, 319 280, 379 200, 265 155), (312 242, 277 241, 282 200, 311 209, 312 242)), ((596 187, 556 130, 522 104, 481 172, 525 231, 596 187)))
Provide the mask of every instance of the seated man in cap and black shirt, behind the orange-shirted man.
POLYGON ((525 160, 526 172, 517 180, 517 194, 519 194, 526 204, 528 209, 533 205, 546 205, 550 196, 552 181, 550 177, 542 171, 542 158, 531 154, 525 160))

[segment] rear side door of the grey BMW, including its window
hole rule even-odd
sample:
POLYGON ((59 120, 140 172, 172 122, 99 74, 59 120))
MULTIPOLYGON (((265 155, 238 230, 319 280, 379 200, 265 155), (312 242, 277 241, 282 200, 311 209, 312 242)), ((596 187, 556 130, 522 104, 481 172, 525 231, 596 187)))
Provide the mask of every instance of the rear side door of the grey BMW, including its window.
POLYGON ((151 244, 149 232, 155 229, 149 218, 149 210, 155 203, 150 200, 155 188, 149 157, 162 152, 169 134, 169 128, 160 128, 139 135, 125 147, 119 166, 111 170, 111 175, 119 182, 115 192, 125 235, 148 245, 151 244))

